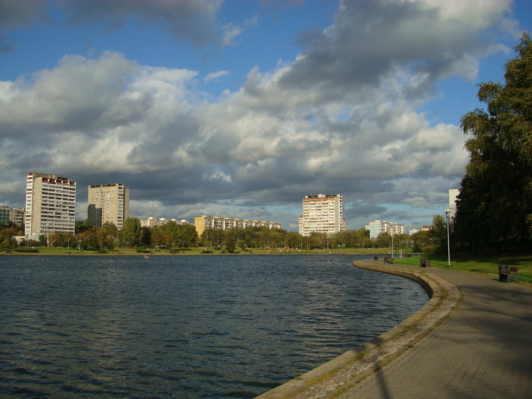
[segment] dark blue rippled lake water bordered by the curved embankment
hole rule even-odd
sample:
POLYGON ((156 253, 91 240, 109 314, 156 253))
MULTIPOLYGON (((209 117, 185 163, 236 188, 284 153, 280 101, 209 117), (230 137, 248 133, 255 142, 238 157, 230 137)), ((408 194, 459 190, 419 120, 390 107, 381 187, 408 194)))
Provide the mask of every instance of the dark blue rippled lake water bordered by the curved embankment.
POLYGON ((427 302, 364 257, 1 256, 0 397, 255 397, 427 302))

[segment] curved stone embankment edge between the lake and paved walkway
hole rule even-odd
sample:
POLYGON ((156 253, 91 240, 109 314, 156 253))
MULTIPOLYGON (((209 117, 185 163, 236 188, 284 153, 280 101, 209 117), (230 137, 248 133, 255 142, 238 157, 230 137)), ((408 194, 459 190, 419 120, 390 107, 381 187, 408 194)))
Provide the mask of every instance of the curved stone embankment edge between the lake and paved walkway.
POLYGON ((427 270, 390 267, 368 260, 354 261, 353 266, 414 280, 430 299, 391 330, 255 399, 325 399, 342 392, 408 350, 448 317, 461 300, 458 287, 427 270))

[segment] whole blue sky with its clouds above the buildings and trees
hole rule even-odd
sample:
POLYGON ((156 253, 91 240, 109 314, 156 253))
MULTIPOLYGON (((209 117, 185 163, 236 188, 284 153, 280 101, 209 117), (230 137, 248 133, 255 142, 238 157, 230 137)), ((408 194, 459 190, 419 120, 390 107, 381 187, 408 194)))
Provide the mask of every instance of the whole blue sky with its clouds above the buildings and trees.
POLYGON ((130 215, 348 229, 448 207, 463 114, 532 32, 530 0, 0 0, 0 205, 26 174, 120 182, 130 215))

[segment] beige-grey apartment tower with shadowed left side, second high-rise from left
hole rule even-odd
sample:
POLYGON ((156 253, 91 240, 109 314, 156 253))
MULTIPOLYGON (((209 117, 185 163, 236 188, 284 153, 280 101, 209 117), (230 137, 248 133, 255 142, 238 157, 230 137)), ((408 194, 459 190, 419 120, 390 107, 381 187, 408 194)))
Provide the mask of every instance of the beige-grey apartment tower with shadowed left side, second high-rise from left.
POLYGON ((89 186, 87 225, 102 226, 111 222, 119 229, 129 217, 129 188, 123 184, 95 184, 89 186))

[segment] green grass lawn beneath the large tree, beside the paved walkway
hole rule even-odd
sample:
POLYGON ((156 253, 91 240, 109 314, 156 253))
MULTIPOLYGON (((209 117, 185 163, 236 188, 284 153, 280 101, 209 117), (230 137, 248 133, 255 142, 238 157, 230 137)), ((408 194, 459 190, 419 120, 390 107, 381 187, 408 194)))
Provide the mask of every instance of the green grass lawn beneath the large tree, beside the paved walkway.
MULTIPOLYGON (((431 256, 431 267, 448 268, 447 255, 431 256)), ((415 264, 419 266, 419 257, 394 259, 395 263, 415 264)), ((519 280, 532 282, 532 251, 520 251, 518 253, 496 253, 493 255, 451 253, 451 269, 467 270, 487 275, 498 276, 499 264, 508 264, 519 268, 519 280)))

